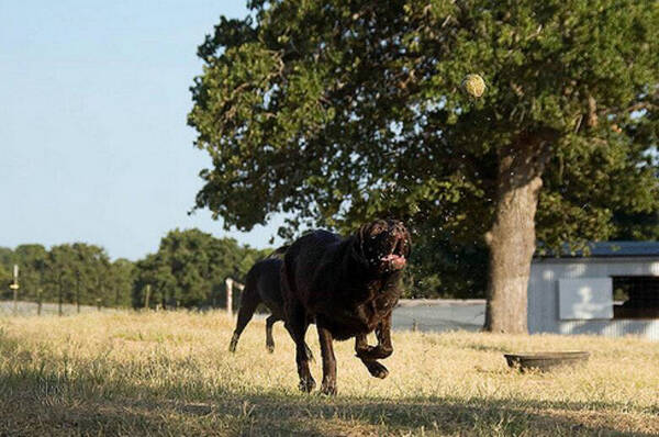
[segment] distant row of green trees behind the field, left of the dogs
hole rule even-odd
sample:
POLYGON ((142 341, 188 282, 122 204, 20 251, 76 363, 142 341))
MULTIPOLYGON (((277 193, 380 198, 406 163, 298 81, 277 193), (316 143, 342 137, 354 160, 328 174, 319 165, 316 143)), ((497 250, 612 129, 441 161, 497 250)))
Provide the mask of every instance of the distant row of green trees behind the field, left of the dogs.
POLYGON ((156 254, 137 261, 111 261, 104 248, 86 243, 0 247, 0 296, 12 298, 18 265, 21 301, 142 307, 148 285, 152 307, 217 306, 225 303, 224 280, 243 280, 268 253, 199 229, 169 232, 156 254))

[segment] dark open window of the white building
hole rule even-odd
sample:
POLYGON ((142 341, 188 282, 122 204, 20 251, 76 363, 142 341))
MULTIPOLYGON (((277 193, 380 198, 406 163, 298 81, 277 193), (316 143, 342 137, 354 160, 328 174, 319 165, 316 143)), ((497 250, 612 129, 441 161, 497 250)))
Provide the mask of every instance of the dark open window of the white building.
POLYGON ((613 318, 659 317, 659 277, 613 277, 613 318))

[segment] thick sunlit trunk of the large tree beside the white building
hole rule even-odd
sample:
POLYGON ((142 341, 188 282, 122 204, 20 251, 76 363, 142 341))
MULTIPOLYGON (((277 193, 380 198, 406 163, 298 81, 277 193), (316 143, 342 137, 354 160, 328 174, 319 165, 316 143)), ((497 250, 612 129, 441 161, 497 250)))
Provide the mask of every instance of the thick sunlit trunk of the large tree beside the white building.
POLYGON ((494 223, 485 235, 490 249, 484 330, 527 333, 527 287, 535 251, 535 213, 547 150, 526 142, 500 150, 494 223))

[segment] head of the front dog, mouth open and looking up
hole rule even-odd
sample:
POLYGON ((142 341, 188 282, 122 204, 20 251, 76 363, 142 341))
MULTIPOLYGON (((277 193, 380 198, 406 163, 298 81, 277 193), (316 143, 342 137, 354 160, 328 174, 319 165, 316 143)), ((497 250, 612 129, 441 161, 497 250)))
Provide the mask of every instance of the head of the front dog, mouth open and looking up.
POLYGON ((355 250, 369 268, 378 273, 386 273, 405 267, 412 240, 402 222, 376 220, 359 228, 355 250))

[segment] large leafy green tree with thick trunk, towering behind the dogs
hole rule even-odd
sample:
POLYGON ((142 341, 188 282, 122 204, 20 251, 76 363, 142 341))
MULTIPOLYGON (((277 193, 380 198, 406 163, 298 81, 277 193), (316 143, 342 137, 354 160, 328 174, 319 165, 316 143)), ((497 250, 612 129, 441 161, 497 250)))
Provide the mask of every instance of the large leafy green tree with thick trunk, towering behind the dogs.
POLYGON ((654 1, 248 5, 199 47, 189 114, 212 158, 197 206, 225 226, 396 215, 482 242, 485 328, 518 333, 537 239, 604 239, 612 211, 657 209, 654 1), (470 72, 481 99, 459 90, 470 72))

